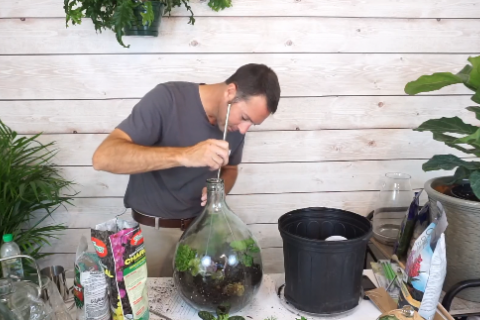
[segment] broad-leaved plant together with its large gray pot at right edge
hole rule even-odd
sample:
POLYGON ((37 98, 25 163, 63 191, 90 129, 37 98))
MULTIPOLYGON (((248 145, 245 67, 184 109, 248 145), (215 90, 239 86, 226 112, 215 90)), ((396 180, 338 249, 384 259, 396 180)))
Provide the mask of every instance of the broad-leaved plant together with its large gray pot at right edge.
MULTIPOLYGON (((405 92, 415 95, 439 90, 452 84, 464 84, 474 94, 471 100, 480 103, 480 56, 469 57, 460 72, 439 72, 423 75, 405 86, 405 92)), ((470 106, 480 120, 480 107, 470 106)), ((447 245, 447 276, 444 288, 449 289, 462 280, 477 279, 480 275, 480 127, 467 124, 459 117, 425 121, 415 131, 429 131, 433 139, 474 156, 467 161, 446 154, 435 155, 422 168, 424 171, 453 170, 453 176, 434 178, 425 183, 430 199, 431 216, 439 213, 437 201, 443 205, 449 226, 445 232, 447 245)), ((464 299, 480 302, 480 289, 468 289, 458 294, 464 299)))

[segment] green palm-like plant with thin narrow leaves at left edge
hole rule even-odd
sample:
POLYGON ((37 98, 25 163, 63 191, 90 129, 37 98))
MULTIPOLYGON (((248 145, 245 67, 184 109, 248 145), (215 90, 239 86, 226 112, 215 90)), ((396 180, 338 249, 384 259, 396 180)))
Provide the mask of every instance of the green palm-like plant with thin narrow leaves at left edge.
POLYGON ((35 259, 45 257, 40 249, 66 229, 45 220, 72 199, 63 195, 72 182, 50 163, 53 143, 41 144, 39 136, 18 137, 0 120, 0 236, 13 234, 21 251, 35 259))

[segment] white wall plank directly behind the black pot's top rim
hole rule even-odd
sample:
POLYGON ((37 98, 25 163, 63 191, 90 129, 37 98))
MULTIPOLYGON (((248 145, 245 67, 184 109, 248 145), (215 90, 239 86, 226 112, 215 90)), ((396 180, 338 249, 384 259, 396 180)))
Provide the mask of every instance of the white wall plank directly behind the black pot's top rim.
MULTIPOLYGON (((338 208, 366 216, 372 210, 377 196, 377 191, 249 194, 228 195, 227 202, 232 211, 250 225, 276 223, 282 214, 305 207, 338 208)), ((129 219, 130 214, 130 209, 125 208, 123 198, 120 197, 75 198, 73 205, 58 208, 42 225, 64 224, 68 228, 91 228, 118 215, 129 219)), ((38 218, 43 216, 44 214, 37 214, 38 218)), ((34 219, 31 223, 37 221, 34 219)))

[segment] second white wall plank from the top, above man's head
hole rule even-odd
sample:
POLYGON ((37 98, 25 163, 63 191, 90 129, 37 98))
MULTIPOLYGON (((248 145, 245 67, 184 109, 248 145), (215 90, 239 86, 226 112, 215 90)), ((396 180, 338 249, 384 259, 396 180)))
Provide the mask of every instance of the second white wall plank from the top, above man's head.
POLYGON ((96 33, 88 20, 65 28, 64 19, 3 19, 0 54, 480 52, 480 20, 471 19, 206 17, 191 26, 171 18, 159 32, 125 37, 130 48, 124 48, 113 32, 96 33))

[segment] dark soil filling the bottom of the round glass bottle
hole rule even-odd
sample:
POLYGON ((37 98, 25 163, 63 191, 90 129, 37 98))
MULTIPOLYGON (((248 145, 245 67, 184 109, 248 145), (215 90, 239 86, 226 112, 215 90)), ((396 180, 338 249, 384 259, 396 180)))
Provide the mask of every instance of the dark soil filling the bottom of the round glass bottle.
POLYGON ((180 290, 200 310, 215 312, 225 308, 236 312, 253 298, 262 281, 262 269, 258 264, 245 267, 238 264, 227 268, 221 279, 212 276, 193 276, 189 271, 179 272, 180 290))

